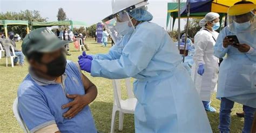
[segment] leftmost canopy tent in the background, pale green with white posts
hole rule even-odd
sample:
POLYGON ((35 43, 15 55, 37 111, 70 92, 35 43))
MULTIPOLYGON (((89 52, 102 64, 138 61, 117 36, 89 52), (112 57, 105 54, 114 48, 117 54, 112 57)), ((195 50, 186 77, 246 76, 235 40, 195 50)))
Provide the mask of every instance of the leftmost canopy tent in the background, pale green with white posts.
POLYGON ((8 36, 7 26, 8 25, 25 25, 26 33, 29 33, 29 21, 26 20, 0 20, 0 26, 4 27, 5 36, 8 36))

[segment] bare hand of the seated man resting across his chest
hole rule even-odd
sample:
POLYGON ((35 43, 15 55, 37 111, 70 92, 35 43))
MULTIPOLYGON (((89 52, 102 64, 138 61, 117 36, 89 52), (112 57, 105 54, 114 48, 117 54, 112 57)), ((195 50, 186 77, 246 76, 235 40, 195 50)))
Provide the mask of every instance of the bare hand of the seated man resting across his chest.
POLYGON ((72 102, 69 104, 63 105, 62 109, 64 108, 70 108, 68 112, 64 113, 63 116, 65 119, 72 119, 75 117, 85 106, 90 104, 90 100, 87 99, 86 95, 70 95, 67 94, 66 97, 70 99, 74 99, 72 102))

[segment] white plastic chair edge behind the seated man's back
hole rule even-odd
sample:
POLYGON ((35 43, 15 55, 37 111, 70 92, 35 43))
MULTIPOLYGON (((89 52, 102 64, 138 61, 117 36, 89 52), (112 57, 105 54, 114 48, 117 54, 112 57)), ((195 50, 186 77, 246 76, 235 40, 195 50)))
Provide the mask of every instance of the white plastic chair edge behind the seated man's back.
POLYGON ((26 125, 24 123, 24 121, 22 120, 21 115, 19 114, 19 110, 18 110, 18 98, 16 98, 14 100, 14 105, 12 105, 12 110, 14 111, 14 115, 16 117, 16 120, 18 121, 19 125, 21 126, 21 128, 23 129, 23 131, 25 133, 28 133, 29 131, 26 128, 26 125))

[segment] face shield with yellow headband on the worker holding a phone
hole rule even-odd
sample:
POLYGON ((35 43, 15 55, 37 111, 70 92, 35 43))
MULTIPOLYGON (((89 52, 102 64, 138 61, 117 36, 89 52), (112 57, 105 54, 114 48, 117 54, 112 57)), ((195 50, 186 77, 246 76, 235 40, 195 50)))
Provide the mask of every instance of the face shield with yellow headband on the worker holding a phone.
POLYGON ((227 16, 227 26, 230 32, 244 33, 252 32, 256 29, 256 16, 254 4, 239 4, 234 5, 237 8, 229 9, 227 16), (243 7, 242 7, 243 6, 243 7))

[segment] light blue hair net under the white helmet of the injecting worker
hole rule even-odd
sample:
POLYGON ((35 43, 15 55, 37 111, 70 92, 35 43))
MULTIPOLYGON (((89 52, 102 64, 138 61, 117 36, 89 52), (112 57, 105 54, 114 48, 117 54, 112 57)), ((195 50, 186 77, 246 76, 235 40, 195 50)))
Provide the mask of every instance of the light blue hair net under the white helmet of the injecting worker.
POLYGON ((151 21, 153 16, 150 12, 146 11, 145 8, 138 8, 129 12, 130 16, 138 21, 151 21))

